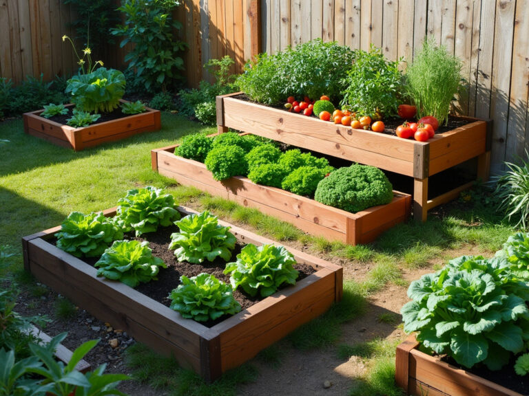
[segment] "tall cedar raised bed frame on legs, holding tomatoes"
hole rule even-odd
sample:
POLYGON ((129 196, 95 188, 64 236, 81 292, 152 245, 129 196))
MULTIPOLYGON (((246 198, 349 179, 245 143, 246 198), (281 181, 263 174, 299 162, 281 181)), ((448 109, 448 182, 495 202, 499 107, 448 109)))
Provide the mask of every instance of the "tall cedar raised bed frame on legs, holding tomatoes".
POLYGON ((490 168, 492 124, 468 118, 470 124, 439 135, 428 142, 352 129, 332 122, 304 117, 281 109, 234 98, 217 96, 219 132, 228 128, 250 132, 334 157, 376 166, 414 178, 413 214, 426 221, 428 210, 459 196, 473 182, 428 199, 428 177, 477 157, 477 177, 486 181, 490 168))

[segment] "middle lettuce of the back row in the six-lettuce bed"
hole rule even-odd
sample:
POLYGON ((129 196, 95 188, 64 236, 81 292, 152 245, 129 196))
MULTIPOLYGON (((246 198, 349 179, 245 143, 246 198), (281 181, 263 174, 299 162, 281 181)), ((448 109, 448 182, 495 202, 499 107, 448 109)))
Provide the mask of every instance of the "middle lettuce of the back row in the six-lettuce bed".
POLYGON ((174 250, 178 261, 198 264, 206 259, 214 261, 216 257, 225 261, 231 259, 236 237, 207 210, 189 214, 175 224, 180 230, 171 234, 169 249, 174 250))

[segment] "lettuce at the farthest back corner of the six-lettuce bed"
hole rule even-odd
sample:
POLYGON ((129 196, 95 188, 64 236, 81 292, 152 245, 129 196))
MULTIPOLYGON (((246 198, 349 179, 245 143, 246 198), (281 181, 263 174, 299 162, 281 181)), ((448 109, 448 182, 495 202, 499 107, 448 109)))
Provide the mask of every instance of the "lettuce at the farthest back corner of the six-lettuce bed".
POLYGON ((158 226, 168 227, 180 219, 174 198, 161 188, 147 186, 128 190, 119 199, 115 221, 126 232, 135 230, 136 236, 155 232, 158 226))

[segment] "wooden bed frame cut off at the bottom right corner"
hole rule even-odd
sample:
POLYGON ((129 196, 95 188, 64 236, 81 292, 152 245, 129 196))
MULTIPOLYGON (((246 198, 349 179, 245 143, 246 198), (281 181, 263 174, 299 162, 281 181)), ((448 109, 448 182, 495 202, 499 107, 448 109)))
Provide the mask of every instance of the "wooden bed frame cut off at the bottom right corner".
POLYGON ((413 396, 522 396, 417 349, 415 336, 397 347, 395 383, 413 396))

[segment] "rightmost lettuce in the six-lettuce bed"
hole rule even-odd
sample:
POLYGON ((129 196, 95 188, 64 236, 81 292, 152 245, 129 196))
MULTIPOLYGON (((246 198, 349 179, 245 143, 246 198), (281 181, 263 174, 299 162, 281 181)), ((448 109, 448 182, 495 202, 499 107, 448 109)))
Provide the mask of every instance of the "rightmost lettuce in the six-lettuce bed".
POLYGON ((249 243, 237 255, 237 261, 227 263, 225 274, 234 289, 242 289, 250 296, 262 297, 275 293, 283 283, 295 285, 298 271, 294 256, 283 246, 249 243))

